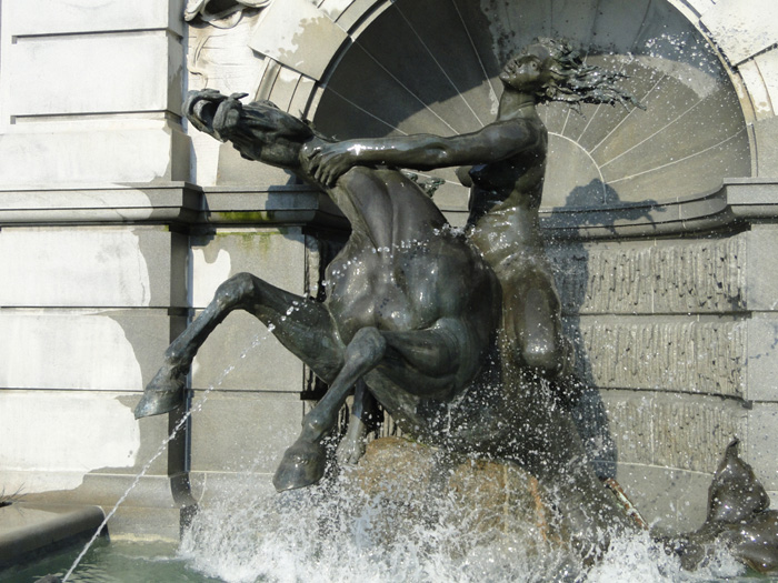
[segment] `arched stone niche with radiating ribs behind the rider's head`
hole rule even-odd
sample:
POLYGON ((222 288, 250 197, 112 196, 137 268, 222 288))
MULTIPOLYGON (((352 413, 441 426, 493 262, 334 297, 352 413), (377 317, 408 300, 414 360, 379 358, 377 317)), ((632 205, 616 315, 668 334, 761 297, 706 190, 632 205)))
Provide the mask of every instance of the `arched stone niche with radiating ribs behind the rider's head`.
MULTIPOLYGON (((280 30, 280 9, 267 12, 259 28, 280 30)), ((543 107, 545 204, 612 207, 698 198, 751 175, 739 78, 689 17, 666 0, 325 1, 307 4, 293 31, 259 30, 252 48, 300 74, 290 105, 350 138, 476 130, 493 119, 500 63, 537 36, 568 38, 624 71, 648 109, 543 107)), ((272 73, 259 92, 275 99, 285 90, 272 73)), ((438 175, 441 204, 460 207, 452 171, 438 175)))

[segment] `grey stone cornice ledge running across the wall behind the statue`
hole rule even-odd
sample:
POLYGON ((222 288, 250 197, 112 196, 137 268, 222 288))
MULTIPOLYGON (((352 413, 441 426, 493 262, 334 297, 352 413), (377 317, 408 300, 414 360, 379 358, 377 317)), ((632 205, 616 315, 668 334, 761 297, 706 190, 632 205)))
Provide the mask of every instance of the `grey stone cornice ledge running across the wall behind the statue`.
MULTIPOLYGON (((458 211, 455 211, 458 212, 458 211)), ((459 211, 461 212, 461 211, 459 211)), ((778 222, 778 180, 730 179, 716 192, 669 202, 540 212, 553 239, 672 237, 778 222)), ((346 229, 335 204, 310 187, 200 188, 187 182, 0 190, 0 227, 170 224, 346 229)))

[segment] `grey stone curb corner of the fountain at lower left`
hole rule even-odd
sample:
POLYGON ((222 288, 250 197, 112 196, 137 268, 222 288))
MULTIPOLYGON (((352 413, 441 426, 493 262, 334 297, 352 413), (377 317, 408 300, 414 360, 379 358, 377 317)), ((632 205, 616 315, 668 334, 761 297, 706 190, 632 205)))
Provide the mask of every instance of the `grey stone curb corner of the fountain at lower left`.
POLYGON ((0 507, 0 569, 49 549, 91 536, 102 524, 99 506, 14 502, 0 507))

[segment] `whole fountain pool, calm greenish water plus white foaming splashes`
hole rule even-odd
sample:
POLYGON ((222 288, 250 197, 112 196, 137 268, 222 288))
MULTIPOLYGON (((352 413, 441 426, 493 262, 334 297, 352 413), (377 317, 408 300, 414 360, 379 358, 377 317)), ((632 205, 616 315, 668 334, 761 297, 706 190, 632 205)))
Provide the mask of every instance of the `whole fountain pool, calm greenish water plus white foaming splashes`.
MULTIPOLYGON (((260 479, 261 480, 261 479, 260 479)), ((714 553, 685 572, 647 535, 614 541, 596 566, 584 569, 553 544, 528 550, 510 531, 452 526, 448 500, 425 506, 429 520, 398 516, 387 497, 359 496, 348 480, 276 494, 247 474, 203 506, 181 543, 98 541, 71 582, 778 582, 714 553), (439 519, 439 520, 436 520, 439 519), (395 529, 387 544, 378 534, 395 529), (540 552, 538 552, 540 551, 540 552)), ((418 501, 417 501, 418 502, 418 501)), ((427 501, 425 501, 427 502, 427 501)), ((409 501, 412 505, 415 501, 409 501)), ((80 547, 0 572, 7 583, 62 576, 80 547)))

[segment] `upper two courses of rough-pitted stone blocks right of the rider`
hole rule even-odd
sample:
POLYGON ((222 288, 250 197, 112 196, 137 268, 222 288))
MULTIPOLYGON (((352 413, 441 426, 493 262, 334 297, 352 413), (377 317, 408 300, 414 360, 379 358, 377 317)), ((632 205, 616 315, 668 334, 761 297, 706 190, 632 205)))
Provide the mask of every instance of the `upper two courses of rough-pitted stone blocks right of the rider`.
POLYGON ((584 378, 744 398, 746 238, 550 249, 584 378))

